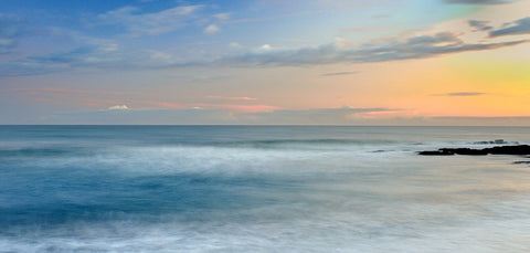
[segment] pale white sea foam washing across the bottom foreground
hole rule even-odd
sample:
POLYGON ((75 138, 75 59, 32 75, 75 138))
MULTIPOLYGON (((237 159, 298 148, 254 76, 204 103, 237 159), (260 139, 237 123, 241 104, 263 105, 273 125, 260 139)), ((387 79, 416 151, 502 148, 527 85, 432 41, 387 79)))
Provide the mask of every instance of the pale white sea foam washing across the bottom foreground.
POLYGON ((6 252, 528 252, 528 199, 489 204, 520 215, 470 215, 448 204, 398 201, 352 211, 322 212, 320 207, 282 219, 271 212, 289 209, 272 207, 252 210, 252 221, 234 215, 208 222, 167 218, 160 223, 80 224, 3 238, 0 246, 6 252))

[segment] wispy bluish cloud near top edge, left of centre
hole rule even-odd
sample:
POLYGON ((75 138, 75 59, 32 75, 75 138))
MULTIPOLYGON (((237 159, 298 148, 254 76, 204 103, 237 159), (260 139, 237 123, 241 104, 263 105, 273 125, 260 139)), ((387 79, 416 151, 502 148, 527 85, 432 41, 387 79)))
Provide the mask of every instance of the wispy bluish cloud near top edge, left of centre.
POLYGON ((187 20, 202 6, 181 6, 159 12, 142 13, 139 8, 124 7, 98 17, 100 24, 120 25, 132 35, 162 34, 187 25, 187 20))

